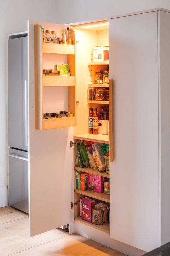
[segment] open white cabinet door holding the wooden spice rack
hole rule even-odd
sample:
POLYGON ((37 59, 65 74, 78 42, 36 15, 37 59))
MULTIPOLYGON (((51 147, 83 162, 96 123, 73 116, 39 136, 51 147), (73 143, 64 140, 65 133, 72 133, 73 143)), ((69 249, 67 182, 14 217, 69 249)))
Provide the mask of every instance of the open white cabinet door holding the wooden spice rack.
MULTIPOLYGON (((49 130, 35 129, 34 70, 37 66, 34 66, 34 24, 41 24, 41 22, 28 22, 30 236, 74 221, 74 210, 71 210, 70 206, 74 200, 74 148, 70 147, 70 140, 73 140, 73 127, 49 130)), ((55 26, 54 30, 58 26, 60 31, 66 27, 53 25, 55 26)), ((44 23, 41 26, 52 30, 52 24, 44 23)), ((62 93, 67 94, 67 90, 62 93)), ((64 104, 61 103, 60 107, 67 109, 67 104, 64 104)))

